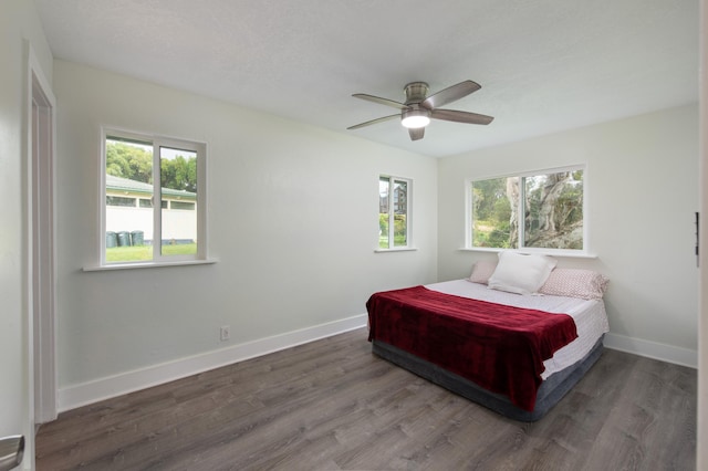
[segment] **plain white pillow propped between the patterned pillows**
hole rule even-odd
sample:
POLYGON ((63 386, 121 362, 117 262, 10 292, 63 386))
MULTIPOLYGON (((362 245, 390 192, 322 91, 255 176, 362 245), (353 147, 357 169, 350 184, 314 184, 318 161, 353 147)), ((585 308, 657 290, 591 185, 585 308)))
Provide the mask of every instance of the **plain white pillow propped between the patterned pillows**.
POLYGON ((531 294, 539 291, 556 261, 546 255, 533 255, 518 252, 499 252, 499 264, 489 278, 492 290, 518 294, 531 294))

